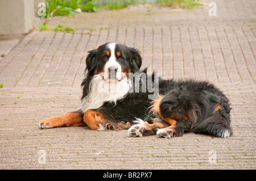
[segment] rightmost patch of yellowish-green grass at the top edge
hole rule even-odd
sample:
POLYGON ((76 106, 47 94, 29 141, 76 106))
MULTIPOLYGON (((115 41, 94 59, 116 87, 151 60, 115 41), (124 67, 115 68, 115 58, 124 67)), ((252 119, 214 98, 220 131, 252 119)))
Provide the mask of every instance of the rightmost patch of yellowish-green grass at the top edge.
POLYGON ((201 5, 197 0, 157 0, 156 4, 183 9, 193 9, 201 5))

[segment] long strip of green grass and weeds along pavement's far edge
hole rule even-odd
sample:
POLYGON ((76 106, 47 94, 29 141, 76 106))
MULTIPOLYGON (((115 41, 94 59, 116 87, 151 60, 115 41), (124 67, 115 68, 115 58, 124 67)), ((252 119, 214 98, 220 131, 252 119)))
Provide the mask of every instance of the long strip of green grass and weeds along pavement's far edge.
MULTIPOLYGON (((200 0, 155 0, 156 5, 171 8, 193 9, 200 0)), ((96 12, 99 9, 121 10, 128 6, 146 4, 147 0, 46 0, 46 16, 74 16, 76 12, 96 12)), ((151 1, 151 3, 154 3, 151 1)))

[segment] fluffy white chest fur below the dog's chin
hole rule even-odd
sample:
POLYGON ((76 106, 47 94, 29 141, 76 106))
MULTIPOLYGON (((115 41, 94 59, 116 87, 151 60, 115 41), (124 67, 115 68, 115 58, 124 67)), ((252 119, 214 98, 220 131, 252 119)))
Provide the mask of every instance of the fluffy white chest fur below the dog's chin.
POLYGON ((95 75, 89 86, 89 94, 82 99, 82 112, 99 108, 107 101, 116 103, 127 94, 129 87, 129 78, 123 78, 122 81, 104 81, 101 75, 95 75))

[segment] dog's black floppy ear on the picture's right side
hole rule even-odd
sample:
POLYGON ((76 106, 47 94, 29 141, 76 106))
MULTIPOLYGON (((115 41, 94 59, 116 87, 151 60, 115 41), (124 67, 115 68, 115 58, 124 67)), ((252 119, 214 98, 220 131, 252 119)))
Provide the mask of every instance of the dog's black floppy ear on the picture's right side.
POLYGON ((131 51, 131 60, 130 60, 131 72, 137 72, 139 71, 142 65, 141 52, 139 52, 139 50, 136 48, 130 48, 130 51, 131 51))

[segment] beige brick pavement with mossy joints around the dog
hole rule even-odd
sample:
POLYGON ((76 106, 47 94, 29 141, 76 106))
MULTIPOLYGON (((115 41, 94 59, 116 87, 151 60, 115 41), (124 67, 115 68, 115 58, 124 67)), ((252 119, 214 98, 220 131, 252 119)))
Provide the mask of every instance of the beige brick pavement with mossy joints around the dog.
POLYGON ((214 17, 211 1, 202 2, 195 10, 138 6, 55 17, 49 26, 63 22, 76 32, 33 31, 12 49, 0 44, 7 52, 0 59, 0 169, 255 169, 256 3, 218 0, 214 17), (40 120, 80 107, 86 52, 108 41, 140 49, 142 66, 164 78, 215 83, 232 103, 233 136, 39 129, 40 120))

